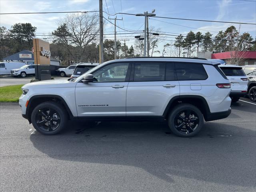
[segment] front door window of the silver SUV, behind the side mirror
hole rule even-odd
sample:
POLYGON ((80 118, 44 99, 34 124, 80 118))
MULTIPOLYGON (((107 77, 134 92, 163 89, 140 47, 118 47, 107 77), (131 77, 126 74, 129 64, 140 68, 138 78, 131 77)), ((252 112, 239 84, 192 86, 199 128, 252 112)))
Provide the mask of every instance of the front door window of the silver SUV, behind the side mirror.
POLYGON ((125 82, 129 63, 114 63, 92 73, 94 82, 125 82))

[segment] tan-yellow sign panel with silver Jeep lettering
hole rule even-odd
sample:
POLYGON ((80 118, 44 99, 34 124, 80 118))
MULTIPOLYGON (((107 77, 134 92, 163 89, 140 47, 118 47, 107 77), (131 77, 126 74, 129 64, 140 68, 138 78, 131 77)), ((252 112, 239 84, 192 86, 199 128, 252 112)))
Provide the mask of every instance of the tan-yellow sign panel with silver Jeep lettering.
POLYGON ((50 65, 50 44, 41 39, 33 39, 34 64, 50 65))

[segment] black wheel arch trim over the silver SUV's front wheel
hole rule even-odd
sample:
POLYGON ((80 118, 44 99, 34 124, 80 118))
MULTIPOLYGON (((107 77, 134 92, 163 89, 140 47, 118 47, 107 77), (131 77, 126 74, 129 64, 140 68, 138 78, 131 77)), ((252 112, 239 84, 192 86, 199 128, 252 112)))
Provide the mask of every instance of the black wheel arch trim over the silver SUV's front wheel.
POLYGON ((38 104, 46 102, 46 101, 58 102, 58 103, 62 104, 64 106, 64 108, 67 110, 69 118, 72 119, 74 117, 70 108, 68 107, 68 104, 61 96, 52 95, 52 94, 35 95, 29 99, 28 106, 26 108, 26 118, 28 119, 28 121, 30 123, 31 123, 31 114, 32 114, 32 111, 34 110, 34 108, 38 104))

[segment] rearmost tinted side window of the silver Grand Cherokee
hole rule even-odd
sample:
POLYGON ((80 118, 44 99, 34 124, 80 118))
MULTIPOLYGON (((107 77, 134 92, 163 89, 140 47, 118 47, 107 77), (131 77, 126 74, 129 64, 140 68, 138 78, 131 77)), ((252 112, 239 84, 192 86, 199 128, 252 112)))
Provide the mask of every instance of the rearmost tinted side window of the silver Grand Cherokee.
POLYGON ((208 76, 202 64, 176 63, 178 80, 205 80, 208 76))

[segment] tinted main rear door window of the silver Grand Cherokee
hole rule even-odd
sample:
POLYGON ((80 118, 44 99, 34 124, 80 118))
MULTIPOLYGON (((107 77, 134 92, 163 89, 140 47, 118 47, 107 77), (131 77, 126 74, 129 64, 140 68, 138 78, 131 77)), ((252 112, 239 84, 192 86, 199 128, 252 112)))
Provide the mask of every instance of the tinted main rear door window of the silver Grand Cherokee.
POLYGON ((134 81, 164 81, 165 64, 157 62, 135 63, 134 81))

